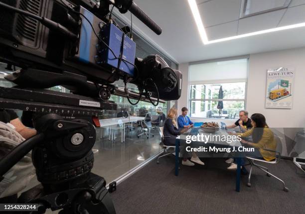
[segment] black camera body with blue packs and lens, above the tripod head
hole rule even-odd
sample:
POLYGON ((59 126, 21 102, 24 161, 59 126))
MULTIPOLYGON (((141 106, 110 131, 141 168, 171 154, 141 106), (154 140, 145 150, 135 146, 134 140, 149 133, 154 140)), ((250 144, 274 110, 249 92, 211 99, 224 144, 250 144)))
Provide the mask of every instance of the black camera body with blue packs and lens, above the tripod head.
MULTIPOLYGON (((136 44, 107 16, 111 1, 0 0, 0 2, 49 19, 59 24, 65 31, 62 33, 62 29, 56 30, 32 17, 0 6, 0 61, 25 71, 47 71, 57 75, 68 72, 73 74, 74 78, 75 75, 85 77, 88 84, 93 83, 96 86, 95 89, 84 92, 78 86, 78 82, 69 78, 65 81, 52 82, 52 85, 70 85, 74 87, 72 92, 80 95, 98 97, 99 86, 107 88, 108 93, 113 94, 114 90, 110 84, 125 79, 135 83, 139 91, 143 88, 147 92, 150 91, 152 97, 158 96, 163 100, 175 100, 180 97, 181 72, 169 68, 157 55, 143 60, 135 59, 136 44), (69 34, 67 35, 66 32, 69 34), (156 84, 158 93, 155 92, 156 87, 152 87, 152 84, 145 85, 148 78, 156 84)), ((126 12, 128 8, 133 11, 136 4, 133 0, 115 0, 114 5, 119 7, 121 12, 126 12)), ((40 88, 50 86, 48 78, 35 77, 31 72, 29 76, 33 80, 45 82, 45 85, 22 79, 15 83, 30 87, 39 85, 40 88)), ((106 99, 108 97, 110 96, 106 99)))

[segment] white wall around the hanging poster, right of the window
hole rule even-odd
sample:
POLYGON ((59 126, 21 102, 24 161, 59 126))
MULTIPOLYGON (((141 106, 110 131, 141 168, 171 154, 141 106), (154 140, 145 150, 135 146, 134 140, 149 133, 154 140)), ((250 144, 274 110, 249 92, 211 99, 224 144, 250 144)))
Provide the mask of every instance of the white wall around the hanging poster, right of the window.
POLYGON ((250 55, 247 110, 262 113, 270 127, 305 127, 305 48, 250 55), (295 68, 292 109, 266 109, 267 69, 295 68))

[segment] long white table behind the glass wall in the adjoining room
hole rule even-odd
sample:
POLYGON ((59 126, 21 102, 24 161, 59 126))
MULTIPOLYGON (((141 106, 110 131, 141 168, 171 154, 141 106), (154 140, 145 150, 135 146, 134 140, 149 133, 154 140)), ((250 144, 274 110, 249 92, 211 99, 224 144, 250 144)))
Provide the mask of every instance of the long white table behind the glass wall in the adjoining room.
MULTIPOLYGON (((133 123, 137 121, 143 121, 145 117, 136 117, 130 116, 128 118, 119 117, 119 118, 110 118, 110 119, 102 119, 100 120, 100 127, 105 128, 109 127, 109 141, 114 141, 116 139, 116 128, 119 125, 119 129, 121 130, 121 143, 125 142, 125 124, 131 123, 133 127, 133 123)), ((102 138, 102 137, 101 137, 102 138)))

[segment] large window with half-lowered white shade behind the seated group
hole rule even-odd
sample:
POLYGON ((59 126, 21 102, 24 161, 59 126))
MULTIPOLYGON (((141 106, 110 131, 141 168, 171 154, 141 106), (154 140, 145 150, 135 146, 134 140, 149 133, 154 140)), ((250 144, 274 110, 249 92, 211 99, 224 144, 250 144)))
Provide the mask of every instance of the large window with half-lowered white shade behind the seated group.
POLYGON ((190 65, 190 116, 238 118, 239 111, 245 109, 247 68, 247 59, 190 65), (220 87, 222 98, 219 97, 220 87), (222 102, 222 109, 217 108, 219 102, 222 102))

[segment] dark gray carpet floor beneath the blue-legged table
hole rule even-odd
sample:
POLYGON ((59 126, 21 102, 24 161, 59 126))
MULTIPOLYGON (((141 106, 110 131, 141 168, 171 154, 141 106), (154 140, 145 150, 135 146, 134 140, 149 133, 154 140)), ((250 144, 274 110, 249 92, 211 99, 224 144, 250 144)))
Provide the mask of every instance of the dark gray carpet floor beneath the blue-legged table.
POLYGON ((252 186, 242 176, 241 192, 235 192, 235 172, 226 170, 224 159, 203 161, 205 166, 181 166, 176 177, 174 156, 153 160, 111 194, 117 214, 305 214, 305 175, 292 161, 262 164, 286 181, 288 193, 257 168, 252 186))

